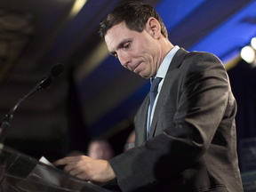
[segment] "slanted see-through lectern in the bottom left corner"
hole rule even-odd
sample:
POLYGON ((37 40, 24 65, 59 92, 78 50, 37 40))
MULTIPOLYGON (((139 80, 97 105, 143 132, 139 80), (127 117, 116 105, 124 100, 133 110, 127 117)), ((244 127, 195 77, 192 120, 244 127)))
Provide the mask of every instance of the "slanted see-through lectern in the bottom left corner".
POLYGON ((0 143, 0 192, 109 192, 0 143))

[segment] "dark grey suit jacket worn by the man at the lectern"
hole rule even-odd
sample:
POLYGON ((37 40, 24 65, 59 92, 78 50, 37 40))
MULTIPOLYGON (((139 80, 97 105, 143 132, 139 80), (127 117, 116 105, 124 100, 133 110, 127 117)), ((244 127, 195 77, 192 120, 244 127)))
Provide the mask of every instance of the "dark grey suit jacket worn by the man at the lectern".
POLYGON ((148 105, 147 96, 136 118, 137 147, 109 161, 122 191, 243 191, 236 100, 216 56, 175 54, 146 141, 148 105))

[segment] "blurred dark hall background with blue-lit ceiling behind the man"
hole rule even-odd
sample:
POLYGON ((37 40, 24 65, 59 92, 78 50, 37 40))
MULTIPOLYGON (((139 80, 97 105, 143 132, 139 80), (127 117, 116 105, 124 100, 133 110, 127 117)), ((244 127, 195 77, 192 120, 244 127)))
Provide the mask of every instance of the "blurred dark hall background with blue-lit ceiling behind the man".
MULTIPOLYGON (((50 161, 86 152, 93 138, 116 155, 133 130, 148 80, 108 55, 99 23, 121 0, 0 0, 0 119, 52 66, 65 72, 20 104, 4 144, 50 161)), ((240 51, 256 36, 256 1, 145 0, 159 12, 174 45, 216 54, 238 103, 237 142, 256 137, 256 69, 240 51)), ((239 148, 238 148, 239 152, 239 148)))

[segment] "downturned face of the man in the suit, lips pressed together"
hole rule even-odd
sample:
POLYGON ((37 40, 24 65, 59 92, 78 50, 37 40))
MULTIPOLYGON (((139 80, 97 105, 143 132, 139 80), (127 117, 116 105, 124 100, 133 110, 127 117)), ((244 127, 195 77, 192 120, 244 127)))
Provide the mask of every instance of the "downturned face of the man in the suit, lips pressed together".
POLYGON ((156 76, 160 65, 160 47, 150 33, 146 29, 141 33, 130 30, 123 21, 108 29, 105 41, 110 54, 116 56, 124 68, 149 78, 156 76))

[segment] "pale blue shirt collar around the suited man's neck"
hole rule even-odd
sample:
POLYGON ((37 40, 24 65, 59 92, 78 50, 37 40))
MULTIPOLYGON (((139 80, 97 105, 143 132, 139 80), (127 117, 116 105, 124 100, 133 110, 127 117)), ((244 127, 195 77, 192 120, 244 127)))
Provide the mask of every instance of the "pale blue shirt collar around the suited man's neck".
POLYGON ((172 58, 175 55, 175 53, 178 52, 179 49, 180 49, 180 47, 178 45, 176 45, 172 48, 172 50, 170 52, 167 53, 163 62, 161 63, 160 67, 157 70, 156 76, 150 78, 151 84, 152 84, 153 79, 156 77, 161 77, 164 79, 164 77, 166 76, 167 70, 172 62, 172 58))

